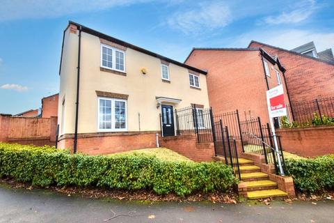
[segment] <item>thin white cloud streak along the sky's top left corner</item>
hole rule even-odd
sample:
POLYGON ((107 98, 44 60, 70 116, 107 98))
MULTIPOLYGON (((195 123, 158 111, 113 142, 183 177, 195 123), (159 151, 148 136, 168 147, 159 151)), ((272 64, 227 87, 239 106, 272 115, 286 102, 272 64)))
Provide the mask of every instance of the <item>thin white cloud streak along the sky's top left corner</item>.
POLYGON ((59 17, 148 1, 151 0, 2 0, 0 21, 59 17))

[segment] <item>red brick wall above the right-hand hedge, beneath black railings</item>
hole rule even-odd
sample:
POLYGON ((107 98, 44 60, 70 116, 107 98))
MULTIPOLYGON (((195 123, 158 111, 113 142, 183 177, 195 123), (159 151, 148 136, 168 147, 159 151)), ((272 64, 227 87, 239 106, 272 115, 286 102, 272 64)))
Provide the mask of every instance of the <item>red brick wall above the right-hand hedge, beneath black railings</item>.
POLYGON ((277 130, 282 148, 304 157, 334 154, 334 126, 277 130))

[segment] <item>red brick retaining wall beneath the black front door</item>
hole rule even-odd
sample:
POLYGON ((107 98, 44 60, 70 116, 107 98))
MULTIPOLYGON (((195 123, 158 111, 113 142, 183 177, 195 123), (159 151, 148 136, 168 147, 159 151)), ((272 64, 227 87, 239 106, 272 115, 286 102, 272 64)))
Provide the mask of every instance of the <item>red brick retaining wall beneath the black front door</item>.
POLYGON ((159 137, 159 144, 161 147, 169 148, 194 161, 212 161, 214 157, 214 144, 198 144, 195 134, 185 134, 177 137, 159 137))

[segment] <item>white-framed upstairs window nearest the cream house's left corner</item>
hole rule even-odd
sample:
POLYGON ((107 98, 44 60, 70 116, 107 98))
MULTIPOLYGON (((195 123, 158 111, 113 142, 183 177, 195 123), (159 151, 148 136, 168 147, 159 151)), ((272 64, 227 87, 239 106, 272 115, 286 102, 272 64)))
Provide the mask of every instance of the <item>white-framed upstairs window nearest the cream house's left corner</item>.
POLYGON ((101 44, 101 67, 125 72, 125 52, 120 49, 101 44))

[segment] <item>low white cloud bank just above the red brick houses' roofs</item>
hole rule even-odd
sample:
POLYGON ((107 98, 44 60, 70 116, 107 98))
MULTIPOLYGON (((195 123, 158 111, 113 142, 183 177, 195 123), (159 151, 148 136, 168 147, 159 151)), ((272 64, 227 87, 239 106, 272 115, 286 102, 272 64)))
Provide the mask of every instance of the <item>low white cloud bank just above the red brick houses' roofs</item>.
POLYGON ((293 49, 304 43, 314 41, 317 51, 320 52, 334 47, 334 32, 321 33, 300 29, 253 31, 241 35, 234 41, 233 45, 246 47, 250 40, 257 40, 284 49, 293 49))

